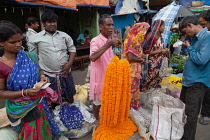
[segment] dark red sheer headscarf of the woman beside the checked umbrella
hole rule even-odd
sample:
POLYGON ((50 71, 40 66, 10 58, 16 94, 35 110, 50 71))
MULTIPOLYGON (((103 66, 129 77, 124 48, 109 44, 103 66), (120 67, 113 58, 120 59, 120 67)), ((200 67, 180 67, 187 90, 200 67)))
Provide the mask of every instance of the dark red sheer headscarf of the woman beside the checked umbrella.
MULTIPOLYGON (((153 44, 156 43, 156 42, 154 42, 154 40, 155 40, 158 30, 160 29, 162 24, 164 24, 164 21, 160 20, 160 19, 155 20, 153 22, 151 32, 147 35, 147 38, 144 42, 144 53, 145 54, 149 54, 152 49, 153 44)), ((162 39, 161 34, 160 34, 160 37, 162 39)))

